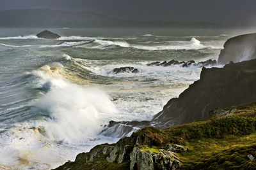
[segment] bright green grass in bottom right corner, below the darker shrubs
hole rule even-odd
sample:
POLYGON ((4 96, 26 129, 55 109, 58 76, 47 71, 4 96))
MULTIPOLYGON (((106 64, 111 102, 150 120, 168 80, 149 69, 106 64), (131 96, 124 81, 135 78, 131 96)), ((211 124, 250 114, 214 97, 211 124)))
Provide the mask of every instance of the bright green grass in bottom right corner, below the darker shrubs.
POLYGON ((182 169, 256 169, 256 132, 246 136, 195 139, 186 144, 188 152, 179 153, 182 169))

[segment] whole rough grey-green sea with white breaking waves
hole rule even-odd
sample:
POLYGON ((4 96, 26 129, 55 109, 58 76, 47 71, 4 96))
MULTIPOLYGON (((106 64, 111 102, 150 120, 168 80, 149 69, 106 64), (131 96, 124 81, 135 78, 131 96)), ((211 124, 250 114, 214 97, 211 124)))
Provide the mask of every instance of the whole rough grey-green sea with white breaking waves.
POLYGON ((218 59, 228 30, 0 29, 0 169, 50 169, 100 143, 110 120, 150 120, 200 77, 154 61, 218 59), (132 66, 139 73, 114 74, 132 66))

